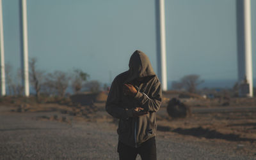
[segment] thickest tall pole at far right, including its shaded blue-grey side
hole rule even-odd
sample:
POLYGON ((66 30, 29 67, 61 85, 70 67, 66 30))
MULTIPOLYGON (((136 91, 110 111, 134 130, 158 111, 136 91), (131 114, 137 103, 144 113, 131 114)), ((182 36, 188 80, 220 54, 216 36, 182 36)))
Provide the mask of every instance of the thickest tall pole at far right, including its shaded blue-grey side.
POLYGON ((246 78, 249 85, 246 96, 253 97, 251 1, 237 0, 236 5, 238 80, 243 82, 246 78))

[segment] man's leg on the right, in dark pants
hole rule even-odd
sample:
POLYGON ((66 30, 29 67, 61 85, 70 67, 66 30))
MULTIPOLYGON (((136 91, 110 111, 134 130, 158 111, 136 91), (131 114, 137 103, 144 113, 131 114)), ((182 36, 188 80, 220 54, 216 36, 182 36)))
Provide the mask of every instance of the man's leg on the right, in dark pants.
POLYGON ((156 139, 150 138, 146 142, 141 144, 138 153, 142 160, 156 160, 156 139))

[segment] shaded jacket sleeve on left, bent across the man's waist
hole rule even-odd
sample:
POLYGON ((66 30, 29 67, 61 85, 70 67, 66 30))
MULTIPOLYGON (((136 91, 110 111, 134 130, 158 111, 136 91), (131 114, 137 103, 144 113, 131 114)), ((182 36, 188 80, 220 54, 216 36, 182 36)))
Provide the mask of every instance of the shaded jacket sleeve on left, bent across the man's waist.
POLYGON ((128 117, 132 117, 132 110, 120 107, 121 94, 122 90, 120 89, 118 82, 115 78, 115 80, 111 84, 108 94, 106 111, 109 113, 109 115, 117 119, 127 119, 128 117))

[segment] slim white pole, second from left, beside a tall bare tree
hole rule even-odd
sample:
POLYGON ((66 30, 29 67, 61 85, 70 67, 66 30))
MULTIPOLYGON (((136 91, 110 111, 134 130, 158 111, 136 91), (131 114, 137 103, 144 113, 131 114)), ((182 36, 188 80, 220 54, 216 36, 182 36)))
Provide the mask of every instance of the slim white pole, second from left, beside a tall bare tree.
POLYGON ((27 22, 27 1, 20 0, 20 9, 22 14, 22 83, 24 84, 24 94, 29 96, 29 70, 28 70, 28 22, 27 22))

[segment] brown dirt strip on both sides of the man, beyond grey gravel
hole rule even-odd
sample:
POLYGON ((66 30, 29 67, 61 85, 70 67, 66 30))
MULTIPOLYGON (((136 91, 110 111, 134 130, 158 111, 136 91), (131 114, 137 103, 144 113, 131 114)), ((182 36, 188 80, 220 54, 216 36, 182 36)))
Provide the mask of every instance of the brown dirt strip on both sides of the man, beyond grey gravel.
MULTIPOLYGON (((251 103, 247 103, 247 105, 241 105, 246 101, 244 99, 232 99, 228 106, 223 106, 223 101, 221 100, 220 103, 220 99, 211 99, 206 102, 195 99, 183 99, 182 101, 191 105, 192 114, 184 119, 172 119, 166 112, 166 103, 163 103, 157 112, 157 136, 162 138, 174 137, 192 143, 211 142, 216 144, 216 147, 221 143, 230 146, 230 150, 237 154, 252 156, 256 159, 255 99, 249 99, 251 103)), ((86 115, 74 114, 72 112, 74 107, 70 108, 70 106, 54 103, 28 105, 21 108, 23 108, 22 112, 45 113, 35 117, 36 120, 57 121, 65 124, 72 124, 74 120, 109 122, 116 126, 117 121, 106 113, 104 106, 104 101, 94 103, 93 107, 97 110, 88 110, 86 115), (58 112, 58 115, 52 114, 52 112, 58 112)), ((9 107, 13 113, 19 112, 20 106, 9 107)), ((83 106, 77 108, 81 110, 81 107, 83 106)))

